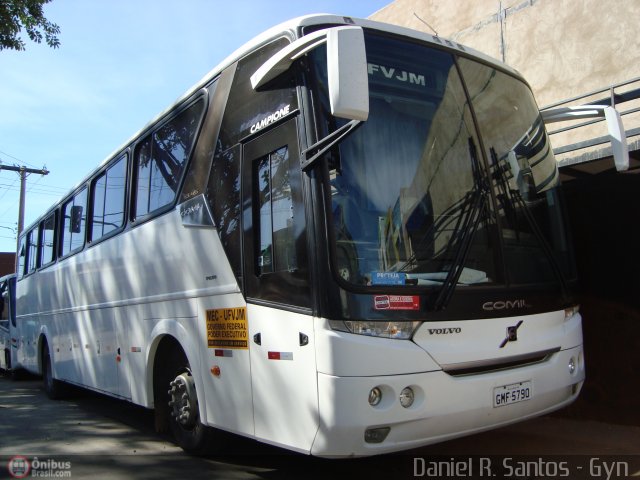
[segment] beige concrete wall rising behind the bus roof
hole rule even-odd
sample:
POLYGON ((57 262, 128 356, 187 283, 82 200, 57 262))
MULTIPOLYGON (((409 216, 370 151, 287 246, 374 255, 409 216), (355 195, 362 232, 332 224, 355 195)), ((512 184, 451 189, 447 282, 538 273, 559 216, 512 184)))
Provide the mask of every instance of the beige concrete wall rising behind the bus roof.
POLYGON ((638 0, 395 0, 370 18, 505 61, 540 105, 640 76, 638 0))

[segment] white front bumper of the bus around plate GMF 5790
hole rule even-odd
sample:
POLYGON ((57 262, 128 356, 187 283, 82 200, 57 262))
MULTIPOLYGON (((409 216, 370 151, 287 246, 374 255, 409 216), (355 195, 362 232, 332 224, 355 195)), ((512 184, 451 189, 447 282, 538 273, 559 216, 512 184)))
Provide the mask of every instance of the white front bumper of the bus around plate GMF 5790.
POLYGON ((534 365, 454 377, 442 371, 381 377, 318 374, 320 428, 311 454, 368 456, 408 450, 543 415, 573 402, 585 378, 582 346, 562 350, 534 365), (570 360, 576 365, 573 373, 570 360), (531 381, 532 398, 494 407, 494 388, 531 381), (379 405, 368 403, 379 387, 379 405), (415 401, 398 400, 410 386, 415 401), (389 427, 380 443, 365 441, 368 429, 389 427))

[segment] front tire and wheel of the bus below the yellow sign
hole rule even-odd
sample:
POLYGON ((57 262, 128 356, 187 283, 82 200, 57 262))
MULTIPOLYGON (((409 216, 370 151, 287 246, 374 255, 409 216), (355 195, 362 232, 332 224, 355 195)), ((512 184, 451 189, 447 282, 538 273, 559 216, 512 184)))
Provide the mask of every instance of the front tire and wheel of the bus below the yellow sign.
POLYGON ((174 347, 163 359, 163 366, 159 370, 161 378, 156 383, 160 389, 157 398, 163 402, 160 412, 164 412, 175 442, 193 455, 213 453, 215 431, 200 421, 195 379, 186 355, 179 347, 174 347))

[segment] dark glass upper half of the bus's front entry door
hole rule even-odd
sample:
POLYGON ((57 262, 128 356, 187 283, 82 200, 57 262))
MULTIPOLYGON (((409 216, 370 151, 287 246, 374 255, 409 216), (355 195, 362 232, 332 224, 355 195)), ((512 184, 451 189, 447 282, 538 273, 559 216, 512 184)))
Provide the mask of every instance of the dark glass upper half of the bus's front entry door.
POLYGON ((247 298, 310 305, 297 120, 247 142, 242 183, 247 298))

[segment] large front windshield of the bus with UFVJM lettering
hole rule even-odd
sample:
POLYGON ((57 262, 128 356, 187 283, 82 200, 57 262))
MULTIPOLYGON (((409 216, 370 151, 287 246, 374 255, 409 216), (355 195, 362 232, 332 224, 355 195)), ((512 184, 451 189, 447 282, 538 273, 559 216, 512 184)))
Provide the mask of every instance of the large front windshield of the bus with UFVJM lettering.
POLYGON ((439 290, 573 278, 556 160, 527 85, 417 43, 368 34, 366 45, 369 119, 328 163, 337 275, 439 290))

